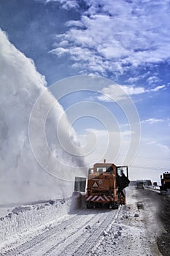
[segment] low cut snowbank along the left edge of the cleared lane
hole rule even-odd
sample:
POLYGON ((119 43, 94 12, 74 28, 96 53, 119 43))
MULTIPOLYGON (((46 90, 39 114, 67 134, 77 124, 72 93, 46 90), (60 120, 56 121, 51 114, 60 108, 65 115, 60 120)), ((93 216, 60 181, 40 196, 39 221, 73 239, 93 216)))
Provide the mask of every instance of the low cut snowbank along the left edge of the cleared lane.
POLYGON ((46 203, 18 206, 0 218, 0 244, 14 235, 45 225, 70 211, 72 199, 49 200, 46 203))

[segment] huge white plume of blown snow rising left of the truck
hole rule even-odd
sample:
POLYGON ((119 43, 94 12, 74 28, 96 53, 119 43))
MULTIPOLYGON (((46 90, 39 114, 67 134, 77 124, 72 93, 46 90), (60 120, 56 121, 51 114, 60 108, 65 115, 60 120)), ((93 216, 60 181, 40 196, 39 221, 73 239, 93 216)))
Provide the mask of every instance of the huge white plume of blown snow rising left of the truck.
MULTIPOLYGON (((72 195, 76 170, 85 165, 74 130, 45 77, 1 30, 0 67, 0 204, 72 195)), ((85 167, 77 172, 86 175, 85 167)))

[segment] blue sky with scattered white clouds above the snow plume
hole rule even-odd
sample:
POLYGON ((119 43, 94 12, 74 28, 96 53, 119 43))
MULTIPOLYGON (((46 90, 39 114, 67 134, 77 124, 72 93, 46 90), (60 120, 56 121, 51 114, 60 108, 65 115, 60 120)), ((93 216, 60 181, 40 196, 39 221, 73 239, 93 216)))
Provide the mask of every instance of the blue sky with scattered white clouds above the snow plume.
MULTIPOLYGON (((34 60, 47 86, 74 75, 96 75, 119 84, 133 100, 141 125, 131 178, 156 179, 169 170, 169 13, 168 0, 1 0, 0 28, 34 60)), ((67 110, 75 103, 96 102, 114 113, 120 130, 128 132, 127 117, 112 100, 114 85, 96 83, 93 90, 69 94, 61 105, 67 110)), ((95 130, 104 141, 103 124, 91 119, 76 121, 74 129, 80 137, 95 130)), ((98 159, 97 154, 88 160, 98 159)))

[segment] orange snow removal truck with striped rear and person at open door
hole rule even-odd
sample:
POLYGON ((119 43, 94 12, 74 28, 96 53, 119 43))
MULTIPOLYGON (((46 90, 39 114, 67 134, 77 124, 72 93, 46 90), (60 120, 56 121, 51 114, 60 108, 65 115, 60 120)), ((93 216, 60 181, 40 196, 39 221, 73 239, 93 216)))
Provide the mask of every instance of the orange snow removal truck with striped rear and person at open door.
POLYGON ((87 208, 118 208, 125 204, 125 187, 128 187, 128 166, 96 163, 88 173, 85 195, 87 208))

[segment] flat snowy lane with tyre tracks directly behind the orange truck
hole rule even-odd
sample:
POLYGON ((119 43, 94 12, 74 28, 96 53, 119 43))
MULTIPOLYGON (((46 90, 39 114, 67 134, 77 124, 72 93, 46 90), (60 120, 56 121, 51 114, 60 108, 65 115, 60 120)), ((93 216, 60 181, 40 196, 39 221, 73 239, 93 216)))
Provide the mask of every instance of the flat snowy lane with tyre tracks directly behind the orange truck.
POLYGON ((115 219, 117 211, 83 209, 53 222, 42 233, 2 249, 1 255, 85 255, 115 219))

